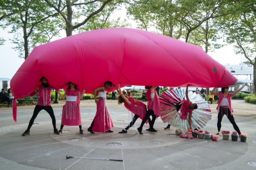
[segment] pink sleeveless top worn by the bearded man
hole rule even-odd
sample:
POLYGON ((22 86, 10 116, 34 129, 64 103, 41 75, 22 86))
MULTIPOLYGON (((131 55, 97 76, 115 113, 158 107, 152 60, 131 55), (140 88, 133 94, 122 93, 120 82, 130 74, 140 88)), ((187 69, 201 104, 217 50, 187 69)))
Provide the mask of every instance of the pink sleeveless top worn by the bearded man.
POLYGON ((39 89, 39 94, 38 94, 39 98, 37 101, 37 105, 50 106, 52 86, 49 85, 48 88, 44 88, 43 85, 39 85, 38 89, 39 89))

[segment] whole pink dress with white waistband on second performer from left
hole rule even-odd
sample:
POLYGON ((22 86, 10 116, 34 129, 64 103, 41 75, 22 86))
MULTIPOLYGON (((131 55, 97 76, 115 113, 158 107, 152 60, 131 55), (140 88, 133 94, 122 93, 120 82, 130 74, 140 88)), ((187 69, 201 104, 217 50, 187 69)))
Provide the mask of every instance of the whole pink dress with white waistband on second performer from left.
POLYGON ((66 103, 63 105, 61 124, 67 126, 81 125, 80 99, 78 96, 79 89, 66 90, 66 103))

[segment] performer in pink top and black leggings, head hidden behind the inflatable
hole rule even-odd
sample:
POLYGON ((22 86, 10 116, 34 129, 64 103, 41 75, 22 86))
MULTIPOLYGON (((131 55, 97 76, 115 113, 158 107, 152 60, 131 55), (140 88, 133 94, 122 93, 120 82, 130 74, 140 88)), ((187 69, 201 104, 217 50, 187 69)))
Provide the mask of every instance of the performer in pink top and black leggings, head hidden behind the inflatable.
POLYGON ((156 129, 154 129, 154 123, 156 117, 160 116, 160 106, 159 106, 159 99, 158 95, 156 93, 157 86, 145 86, 145 89, 147 89, 147 114, 145 118, 141 122, 141 126, 138 129, 140 134, 142 133, 142 127, 145 124, 145 122, 149 119, 150 115, 152 116, 151 121, 149 121, 149 129, 146 129, 147 131, 150 132, 157 132, 156 129))

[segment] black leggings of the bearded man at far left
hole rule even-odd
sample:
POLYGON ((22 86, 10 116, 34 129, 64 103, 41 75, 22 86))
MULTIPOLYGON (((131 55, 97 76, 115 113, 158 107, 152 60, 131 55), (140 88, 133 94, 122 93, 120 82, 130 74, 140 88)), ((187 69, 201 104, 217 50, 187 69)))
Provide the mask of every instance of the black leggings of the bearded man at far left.
POLYGON ((55 116, 54 116, 54 113, 53 113, 53 109, 51 106, 39 106, 39 105, 36 105, 35 109, 34 109, 34 113, 32 115, 32 118, 30 119, 29 121, 29 124, 28 124, 28 127, 27 127, 27 130, 30 131, 30 128, 31 126, 33 125, 36 117, 37 117, 37 114, 41 111, 41 110, 45 110, 47 113, 49 113, 50 117, 52 118, 52 125, 53 125, 53 129, 56 129, 56 119, 55 119, 55 116))

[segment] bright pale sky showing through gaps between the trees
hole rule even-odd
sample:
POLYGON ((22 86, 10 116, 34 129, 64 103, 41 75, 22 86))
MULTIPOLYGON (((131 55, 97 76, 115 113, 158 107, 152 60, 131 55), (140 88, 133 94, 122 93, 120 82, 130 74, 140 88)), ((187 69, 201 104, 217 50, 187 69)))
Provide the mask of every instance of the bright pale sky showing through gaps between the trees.
MULTIPOLYGON (((116 11, 112 15, 112 19, 115 19, 116 16, 121 16, 121 19, 126 18, 128 22, 131 23, 130 27, 136 28, 136 23, 131 19, 127 18, 126 10, 124 7, 121 10, 116 11)), ((0 78, 11 79, 25 60, 23 58, 19 58, 18 53, 14 51, 14 49, 12 49, 12 47, 14 47, 15 44, 12 44, 9 39, 12 38, 14 35, 9 34, 8 30, 10 30, 10 28, 0 30, 0 37, 6 39, 4 45, 0 46, 0 78)), ((62 31, 61 37, 55 37, 53 38, 53 40, 64 37, 66 37, 66 34, 64 31, 62 31)), ((230 63, 232 65, 238 65, 241 61, 246 61, 246 58, 243 55, 234 54, 234 48, 232 45, 227 45, 220 49, 215 49, 214 52, 208 52, 208 55, 211 56, 214 60, 221 63, 222 65, 225 65, 227 63, 230 63)))

